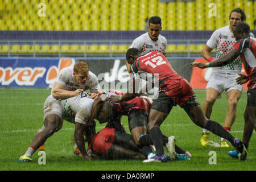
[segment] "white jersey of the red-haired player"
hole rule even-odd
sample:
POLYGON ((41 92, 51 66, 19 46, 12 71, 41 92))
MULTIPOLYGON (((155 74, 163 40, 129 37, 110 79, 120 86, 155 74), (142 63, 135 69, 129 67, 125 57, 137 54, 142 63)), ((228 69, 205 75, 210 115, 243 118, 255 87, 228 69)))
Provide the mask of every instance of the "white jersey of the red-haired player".
POLYGON ((94 73, 89 71, 89 76, 84 85, 80 85, 75 82, 73 78, 74 67, 67 67, 61 69, 59 75, 56 78, 56 82, 65 86, 65 90, 75 91, 76 89, 90 90, 93 92, 100 92, 100 85, 98 84, 98 78, 94 73))

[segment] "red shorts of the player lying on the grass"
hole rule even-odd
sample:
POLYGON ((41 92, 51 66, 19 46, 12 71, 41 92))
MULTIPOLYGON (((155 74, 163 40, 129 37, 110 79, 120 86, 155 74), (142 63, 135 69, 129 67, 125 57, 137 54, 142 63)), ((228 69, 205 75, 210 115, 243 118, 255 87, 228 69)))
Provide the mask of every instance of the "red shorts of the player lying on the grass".
MULTIPOLYGON (((114 142, 115 129, 105 127, 99 131, 92 139, 93 151, 96 154, 107 154, 114 142)), ((90 149, 90 147, 88 147, 90 149)))

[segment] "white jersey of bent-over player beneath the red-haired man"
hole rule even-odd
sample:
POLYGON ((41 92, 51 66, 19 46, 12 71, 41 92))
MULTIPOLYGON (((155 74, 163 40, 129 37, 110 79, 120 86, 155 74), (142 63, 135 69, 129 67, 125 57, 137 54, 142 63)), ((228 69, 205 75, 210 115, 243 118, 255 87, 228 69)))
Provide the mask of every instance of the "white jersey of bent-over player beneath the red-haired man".
POLYGON ((63 119, 72 123, 79 122, 86 125, 94 102, 86 92, 81 92, 75 97, 60 99, 58 102, 63 111, 63 119))

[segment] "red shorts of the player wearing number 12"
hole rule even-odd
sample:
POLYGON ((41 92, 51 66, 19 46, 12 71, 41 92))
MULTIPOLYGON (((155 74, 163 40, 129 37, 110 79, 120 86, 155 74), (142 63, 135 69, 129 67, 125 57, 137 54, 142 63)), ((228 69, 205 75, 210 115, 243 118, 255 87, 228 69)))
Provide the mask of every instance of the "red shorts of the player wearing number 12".
POLYGON ((165 92, 167 96, 171 97, 179 106, 182 106, 185 101, 195 96, 193 89, 189 82, 184 78, 179 80, 164 81, 165 92))

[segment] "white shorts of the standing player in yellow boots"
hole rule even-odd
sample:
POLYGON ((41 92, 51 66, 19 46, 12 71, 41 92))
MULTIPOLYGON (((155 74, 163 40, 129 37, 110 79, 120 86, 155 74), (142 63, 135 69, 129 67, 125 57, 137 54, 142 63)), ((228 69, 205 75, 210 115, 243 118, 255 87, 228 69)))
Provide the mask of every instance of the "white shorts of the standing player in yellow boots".
POLYGON ((240 84, 237 84, 236 78, 239 77, 239 75, 236 73, 212 73, 210 75, 210 79, 208 81, 206 88, 213 88, 218 90, 218 93, 220 95, 225 90, 226 93, 228 93, 230 90, 239 90, 242 92, 243 86, 240 84))

